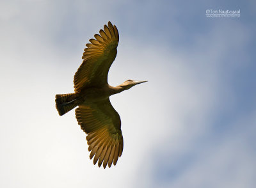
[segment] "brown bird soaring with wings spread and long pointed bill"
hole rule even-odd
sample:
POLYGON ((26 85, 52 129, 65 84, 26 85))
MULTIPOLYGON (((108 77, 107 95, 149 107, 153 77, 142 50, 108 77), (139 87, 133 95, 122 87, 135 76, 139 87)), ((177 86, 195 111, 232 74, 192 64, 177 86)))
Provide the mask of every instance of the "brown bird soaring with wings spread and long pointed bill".
POLYGON ((55 96, 60 116, 74 109, 86 140, 90 159, 100 167, 116 165, 121 157, 124 141, 119 114, 111 105, 109 97, 129 90, 147 81, 127 80, 118 86, 108 84, 108 72, 116 58, 119 34, 115 25, 108 22, 99 34, 86 43, 83 63, 74 75, 74 93, 55 96))

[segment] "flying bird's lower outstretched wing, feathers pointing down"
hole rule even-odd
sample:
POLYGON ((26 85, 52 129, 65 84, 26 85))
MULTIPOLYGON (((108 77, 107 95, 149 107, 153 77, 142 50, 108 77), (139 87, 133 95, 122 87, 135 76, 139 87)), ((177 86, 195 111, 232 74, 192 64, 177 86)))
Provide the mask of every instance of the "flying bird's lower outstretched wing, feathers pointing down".
POLYGON ((76 109, 76 118, 86 136, 89 145, 90 159, 93 164, 98 162, 100 167, 107 164, 110 168, 112 162, 116 165, 118 157, 123 152, 123 136, 119 114, 107 100, 89 105, 79 105, 76 109))

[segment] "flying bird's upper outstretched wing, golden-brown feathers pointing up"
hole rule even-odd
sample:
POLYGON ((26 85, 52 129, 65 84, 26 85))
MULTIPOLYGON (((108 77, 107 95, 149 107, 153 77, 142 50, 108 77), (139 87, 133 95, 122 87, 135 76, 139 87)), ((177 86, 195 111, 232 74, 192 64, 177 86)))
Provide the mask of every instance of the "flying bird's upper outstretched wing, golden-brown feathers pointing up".
POLYGON ((86 44, 82 65, 74 76, 74 88, 79 92, 84 87, 101 86, 108 82, 108 70, 116 58, 116 48, 119 41, 116 26, 108 22, 104 31, 100 29, 91 43, 86 44))

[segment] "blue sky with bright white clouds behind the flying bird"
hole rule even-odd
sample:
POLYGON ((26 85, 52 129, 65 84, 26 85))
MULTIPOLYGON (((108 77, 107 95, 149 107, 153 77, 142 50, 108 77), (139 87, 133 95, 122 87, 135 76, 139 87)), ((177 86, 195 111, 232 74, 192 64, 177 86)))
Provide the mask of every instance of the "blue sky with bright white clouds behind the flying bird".
POLYGON ((0 187, 255 187, 255 1, 0 1, 0 187), (240 10, 209 18, 207 10, 240 10), (72 93, 85 43, 111 21, 108 82, 124 152, 89 159, 72 93))

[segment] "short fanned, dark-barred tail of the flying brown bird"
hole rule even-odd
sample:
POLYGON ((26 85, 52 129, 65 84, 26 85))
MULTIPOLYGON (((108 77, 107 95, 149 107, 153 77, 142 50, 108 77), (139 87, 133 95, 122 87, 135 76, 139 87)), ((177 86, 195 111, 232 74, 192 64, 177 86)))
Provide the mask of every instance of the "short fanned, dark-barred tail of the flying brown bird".
POLYGON ((77 106, 76 93, 55 95, 56 109, 60 116, 77 106))

